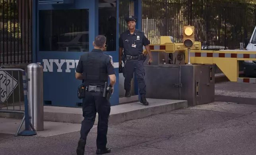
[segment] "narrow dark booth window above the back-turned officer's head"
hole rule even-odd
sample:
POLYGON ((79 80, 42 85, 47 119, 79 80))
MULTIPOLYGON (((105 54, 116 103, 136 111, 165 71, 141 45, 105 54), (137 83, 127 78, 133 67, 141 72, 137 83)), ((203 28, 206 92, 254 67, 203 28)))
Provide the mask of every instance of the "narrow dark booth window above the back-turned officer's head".
POLYGON ((116 51, 116 2, 99 0, 99 34, 106 36, 106 51, 116 51))

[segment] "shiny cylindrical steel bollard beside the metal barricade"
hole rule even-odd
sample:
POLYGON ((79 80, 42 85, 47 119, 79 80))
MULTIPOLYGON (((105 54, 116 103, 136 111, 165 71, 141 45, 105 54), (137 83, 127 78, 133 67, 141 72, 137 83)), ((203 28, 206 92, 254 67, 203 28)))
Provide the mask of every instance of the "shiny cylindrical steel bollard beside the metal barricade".
POLYGON ((27 88, 29 116, 36 131, 44 130, 43 66, 37 63, 27 65, 27 88))

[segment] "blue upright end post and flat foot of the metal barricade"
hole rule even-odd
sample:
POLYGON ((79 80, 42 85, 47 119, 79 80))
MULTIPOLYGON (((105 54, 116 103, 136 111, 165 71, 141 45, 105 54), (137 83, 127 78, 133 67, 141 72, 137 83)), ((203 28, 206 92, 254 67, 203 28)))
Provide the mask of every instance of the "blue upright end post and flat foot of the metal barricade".
POLYGON ((27 102, 27 74, 23 70, 22 71, 22 83, 23 83, 23 92, 24 92, 24 108, 25 108, 25 130, 20 132, 21 136, 33 136, 37 133, 34 130, 29 129, 29 112, 28 112, 28 102, 27 102))

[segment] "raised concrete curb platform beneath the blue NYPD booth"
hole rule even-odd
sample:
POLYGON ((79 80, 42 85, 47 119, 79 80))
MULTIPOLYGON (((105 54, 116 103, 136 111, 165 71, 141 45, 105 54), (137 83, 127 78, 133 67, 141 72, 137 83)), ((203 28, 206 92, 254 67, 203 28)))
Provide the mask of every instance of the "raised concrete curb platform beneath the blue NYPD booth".
MULTIPOLYGON (((122 123, 132 119, 140 119, 150 115, 188 107, 188 102, 184 100, 162 100, 151 98, 147 100, 149 102, 149 106, 143 106, 140 102, 111 106, 109 124, 122 123)), ((22 107, 21 109, 24 108, 22 107)), ((16 113, 0 113, 0 117, 21 119, 22 115, 16 113)), ((96 115, 95 125, 98 123, 97 117, 98 115, 96 115)), ((44 106, 44 120, 66 123, 81 123, 83 120, 82 109, 44 106)))

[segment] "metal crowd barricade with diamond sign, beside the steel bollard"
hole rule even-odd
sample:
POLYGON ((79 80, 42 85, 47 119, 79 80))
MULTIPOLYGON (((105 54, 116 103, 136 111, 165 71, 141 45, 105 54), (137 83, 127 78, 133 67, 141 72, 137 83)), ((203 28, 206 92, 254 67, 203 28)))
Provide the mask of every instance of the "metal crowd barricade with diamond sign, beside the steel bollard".
POLYGON ((15 68, 15 69, 7 69, 0 68, 0 113, 21 113, 23 114, 23 118, 19 124, 19 127, 16 131, 15 136, 32 136, 35 135, 35 129, 31 124, 29 117, 29 108, 28 108, 28 96, 27 96, 27 74, 25 70, 15 68), (14 78, 14 72, 15 74, 14 78), (22 73, 22 77, 20 77, 22 73), (22 78, 22 86, 21 86, 21 78, 22 78), (17 90, 18 88, 18 90, 17 90), (22 91, 23 88, 23 91, 22 91), (15 93, 14 93, 15 92, 15 93), (16 96, 18 93, 18 96, 16 96), (15 95, 14 95, 15 94, 15 95), (23 94, 23 95, 22 95, 23 94), (12 97, 11 97, 12 96, 12 97), (23 98, 24 97, 24 98, 23 98), (21 102, 21 99, 24 99, 24 102, 21 102), (12 104, 10 101, 12 100, 12 104), (18 101, 17 101, 18 100, 18 101), (24 107, 24 109, 23 109, 24 107), (19 132, 21 127, 25 121, 25 130, 19 132), (29 129, 29 126, 32 130, 29 129))

